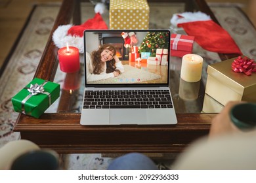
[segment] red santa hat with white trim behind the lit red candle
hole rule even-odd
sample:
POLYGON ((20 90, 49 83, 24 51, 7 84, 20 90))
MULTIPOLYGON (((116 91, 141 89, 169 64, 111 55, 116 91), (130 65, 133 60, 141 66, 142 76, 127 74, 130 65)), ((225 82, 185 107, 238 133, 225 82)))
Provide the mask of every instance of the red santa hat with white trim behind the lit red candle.
MULTIPOLYGON (((96 10, 95 10, 96 11, 96 10)), ((94 18, 91 18, 81 25, 60 25, 53 33, 53 42, 58 48, 66 46, 75 46, 79 53, 83 53, 83 31, 86 29, 108 29, 100 12, 96 12, 94 18)))

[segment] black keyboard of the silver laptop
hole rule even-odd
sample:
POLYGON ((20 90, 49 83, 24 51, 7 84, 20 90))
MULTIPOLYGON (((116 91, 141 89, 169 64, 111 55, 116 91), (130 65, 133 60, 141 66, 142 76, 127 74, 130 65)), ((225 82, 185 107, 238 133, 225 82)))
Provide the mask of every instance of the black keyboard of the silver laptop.
POLYGON ((83 108, 173 108, 169 90, 85 91, 83 108))

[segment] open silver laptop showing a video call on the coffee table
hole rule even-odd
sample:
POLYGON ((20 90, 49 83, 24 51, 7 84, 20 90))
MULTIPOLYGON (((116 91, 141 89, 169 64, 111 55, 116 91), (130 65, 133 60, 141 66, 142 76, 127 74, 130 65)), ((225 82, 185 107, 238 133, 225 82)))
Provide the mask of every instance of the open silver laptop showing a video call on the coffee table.
MULTIPOLYGON (((81 125, 175 125, 177 116, 169 90, 169 30, 86 30, 84 31, 85 90, 81 125), (127 34, 126 34, 127 33, 127 34), (125 37, 133 35, 135 37, 125 37), (154 38, 156 37, 156 38, 154 38), (129 40, 130 39, 130 40, 129 40), (161 42, 155 41, 161 39, 161 42), (128 44, 125 44, 128 43, 128 44), (108 71, 108 56, 100 54, 100 69, 95 69, 96 52, 116 50, 118 75, 108 71), (156 44, 159 44, 156 46, 156 44), (165 60, 151 48, 165 50, 165 60), (150 48, 151 47, 151 48, 150 48), (98 51, 99 48, 105 50, 98 51), (150 48, 150 49, 148 49, 150 48), (167 52, 166 52, 167 51, 167 52), (158 59, 156 59, 158 58, 158 59)), ((159 50, 158 50, 159 51, 159 50)), ((113 67, 113 66, 111 66, 113 67)), ((115 70, 116 71, 116 70, 115 70)))

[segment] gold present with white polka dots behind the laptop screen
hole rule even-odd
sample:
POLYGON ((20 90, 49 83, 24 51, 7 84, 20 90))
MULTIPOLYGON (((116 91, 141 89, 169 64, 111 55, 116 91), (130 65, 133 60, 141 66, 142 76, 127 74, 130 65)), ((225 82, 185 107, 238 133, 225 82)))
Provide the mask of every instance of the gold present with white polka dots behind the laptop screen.
POLYGON ((148 29, 149 9, 146 0, 111 0, 110 29, 148 29))

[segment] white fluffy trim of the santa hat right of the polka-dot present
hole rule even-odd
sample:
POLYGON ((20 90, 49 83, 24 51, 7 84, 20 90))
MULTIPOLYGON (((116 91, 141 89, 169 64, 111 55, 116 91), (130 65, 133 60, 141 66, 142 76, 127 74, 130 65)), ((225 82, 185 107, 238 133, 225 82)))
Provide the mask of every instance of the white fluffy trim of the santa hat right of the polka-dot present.
POLYGON ((186 22, 206 21, 211 20, 211 17, 203 12, 182 12, 173 14, 171 24, 177 27, 178 24, 186 22))

